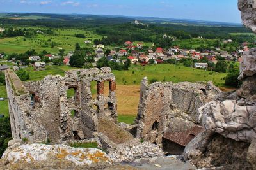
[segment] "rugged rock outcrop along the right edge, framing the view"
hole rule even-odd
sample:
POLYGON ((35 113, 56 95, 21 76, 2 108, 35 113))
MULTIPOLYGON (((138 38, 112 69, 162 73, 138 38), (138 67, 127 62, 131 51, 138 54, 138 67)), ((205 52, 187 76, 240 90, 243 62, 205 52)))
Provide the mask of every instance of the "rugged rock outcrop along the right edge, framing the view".
MULTIPOLYGON (((244 25, 256 31, 256 1, 239 0, 244 25)), ((198 109, 204 132, 185 148, 197 167, 256 169, 256 48, 243 54, 235 92, 221 93, 198 109)))

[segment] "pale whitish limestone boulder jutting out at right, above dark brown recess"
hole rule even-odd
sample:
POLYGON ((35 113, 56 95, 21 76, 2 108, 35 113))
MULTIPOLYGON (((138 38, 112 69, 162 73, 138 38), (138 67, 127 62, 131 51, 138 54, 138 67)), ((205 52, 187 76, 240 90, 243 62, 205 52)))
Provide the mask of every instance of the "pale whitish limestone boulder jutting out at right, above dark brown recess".
POLYGON ((202 125, 236 141, 251 142, 256 137, 256 106, 239 106, 239 101, 211 101, 198 109, 202 125))

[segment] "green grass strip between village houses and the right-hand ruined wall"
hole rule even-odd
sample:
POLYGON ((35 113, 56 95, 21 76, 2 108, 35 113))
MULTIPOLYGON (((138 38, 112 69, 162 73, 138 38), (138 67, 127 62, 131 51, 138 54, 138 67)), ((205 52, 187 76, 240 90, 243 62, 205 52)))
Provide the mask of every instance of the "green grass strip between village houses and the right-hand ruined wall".
POLYGON ((156 64, 151 66, 132 65, 129 71, 113 71, 117 84, 139 85, 142 78, 147 76, 148 80, 156 78, 158 81, 172 81, 178 83, 182 81, 213 81, 214 85, 221 87, 224 85, 227 73, 215 73, 202 69, 194 69, 173 64, 156 64), (133 74, 134 73, 134 74, 133 74))

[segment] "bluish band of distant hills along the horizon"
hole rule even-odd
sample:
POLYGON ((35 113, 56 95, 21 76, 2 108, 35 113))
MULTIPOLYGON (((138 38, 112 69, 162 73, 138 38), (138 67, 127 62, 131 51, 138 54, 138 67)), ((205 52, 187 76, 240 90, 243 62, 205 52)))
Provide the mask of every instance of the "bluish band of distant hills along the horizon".
POLYGON ((139 20, 152 24, 179 24, 202 26, 242 27, 239 23, 212 22, 204 20, 157 18, 157 17, 131 17, 123 15, 90 15, 90 14, 54 14, 54 13, 0 13, 0 19, 11 20, 60 20, 72 22, 86 22, 86 24, 120 24, 139 20))

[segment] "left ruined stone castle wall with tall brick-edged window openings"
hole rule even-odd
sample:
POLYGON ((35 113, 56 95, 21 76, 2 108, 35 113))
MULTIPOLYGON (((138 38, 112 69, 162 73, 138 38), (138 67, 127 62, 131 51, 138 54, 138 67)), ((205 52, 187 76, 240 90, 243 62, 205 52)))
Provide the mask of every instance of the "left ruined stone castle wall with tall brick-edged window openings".
POLYGON ((6 71, 6 88, 13 139, 53 143, 91 138, 97 131, 98 117, 117 122, 115 76, 109 67, 67 71, 65 76, 46 76, 42 81, 22 83, 17 75, 6 71), (14 76, 24 92, 14 92, 14 76), (92 99, 91 82, 97 81, 97 98, 92 99), (109 82, 109 95, 104 96, 104 81, 109 82), (75 89, 74 99, 67 90, 75 89), (97 106, 97 110, 93 108, 97 106), (106 108, 106 106, 108 106, 106 108), (75 111, 74 117, 71 111, 75 111))

